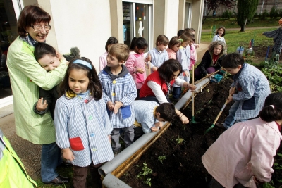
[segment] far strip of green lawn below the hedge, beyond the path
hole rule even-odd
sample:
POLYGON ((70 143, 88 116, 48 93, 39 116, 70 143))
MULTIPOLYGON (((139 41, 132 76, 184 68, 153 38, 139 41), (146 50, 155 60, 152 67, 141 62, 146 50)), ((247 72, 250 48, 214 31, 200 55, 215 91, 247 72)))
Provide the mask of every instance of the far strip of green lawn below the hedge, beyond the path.
MULTIPOLYGON (((203 18, 204 20, 204 18, 203 18)), ((278 27, 278 20, 276 19, 270 19, 266 18, 265 20, 261 20, 258 18, 255 18, 253 20, 253 23, 247 24, 247 27, 278 27)), ((202 25, 202 30, 211 29, 212 25, 216 25, 216 27, 219 27, 223 25, 226 28, 240 28, 240 26, 236 22, 236 18, 231 18, 230 20, 226 20, 223 18, 207 18, 207 20, 204 21, 204 24, 202 25)))

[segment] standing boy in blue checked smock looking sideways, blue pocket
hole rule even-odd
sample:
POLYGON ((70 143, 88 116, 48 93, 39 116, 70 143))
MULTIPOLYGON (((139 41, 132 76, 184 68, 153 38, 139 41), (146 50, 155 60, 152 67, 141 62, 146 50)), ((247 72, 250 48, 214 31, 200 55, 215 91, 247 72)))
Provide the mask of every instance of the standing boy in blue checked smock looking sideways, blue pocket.
POLYGON ((134 140, 134 111, 131 103, 137 96, 133 77, 123 65, 128 60, 129 49, 125 44, 114 44, 109 49, 107 65, 99 73, 102 83, 103 99, 108 108, 109 118, 114 130, 111 132, 111 148, 116 156, 121 150, 120 130, 124 132, 125 147, 134 140))

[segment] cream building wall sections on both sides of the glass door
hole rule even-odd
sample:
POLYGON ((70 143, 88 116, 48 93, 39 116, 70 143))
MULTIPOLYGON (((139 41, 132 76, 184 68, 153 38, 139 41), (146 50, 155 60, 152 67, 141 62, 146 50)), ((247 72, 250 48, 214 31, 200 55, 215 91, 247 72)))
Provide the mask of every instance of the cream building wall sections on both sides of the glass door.
MULTIPOLYGON (((196 30, 200 42, 202 23, 202 2, 192 2, 191 27, 196 30)), ((61 54, 77 46, 81 56, 90 58, 95 68, 99 67, 99 56, 104 53, 106 40, 114 36, 123 42, 122 0, 23 0, 27 4, 39 4, 50 13, 52 26, 47 43, 61 54)), ((154 0, 152 46, 160 34, 171 39, 184 27, 186 0, 154 0)))

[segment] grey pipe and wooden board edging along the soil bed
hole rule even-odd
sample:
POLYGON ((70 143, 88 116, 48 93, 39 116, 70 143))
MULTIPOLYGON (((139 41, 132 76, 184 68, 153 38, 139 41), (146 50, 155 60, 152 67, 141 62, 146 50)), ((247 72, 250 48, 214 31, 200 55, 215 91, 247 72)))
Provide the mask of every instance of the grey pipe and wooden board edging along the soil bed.
MULTIPOLYGON (((195 85, 195 92, 198 92, 207 84, 209 84, 209 78, 197 83, 195 85)), ((186 94, 176 103, 176 109, 180 110, 180 108, 182 108, 191 97, 192 92, 186 92, 186 94)), ((108 188, 118 188, 117 184, 114 185, 111 182, 118 181, 118 178, 121 177, 147 149, 149 149, 149 146, 151 146, 161 136, 161 134, 168 129, 169 126, 170 123, 165 123, 161 130, 143 134, 142 137, 133 142, 133 144, 121 151, 121 153, 118 153, 113 160, 102 165, 98 171, 100 175, 105 177, 103 184, 108 188)), ((121 186, 123 185, 121 184, 121 186)))

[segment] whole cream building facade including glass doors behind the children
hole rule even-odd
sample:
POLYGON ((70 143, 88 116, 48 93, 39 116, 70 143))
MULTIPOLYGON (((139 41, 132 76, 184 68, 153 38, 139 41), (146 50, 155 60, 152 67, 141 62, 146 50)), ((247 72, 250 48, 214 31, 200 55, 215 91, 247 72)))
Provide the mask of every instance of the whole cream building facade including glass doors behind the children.
POLYGON ((39 5, 51 15, 48 44, 61 54, 78 47, 97 70, 111 36, 128 46, 133 37, 145 37, 149 50, 158 35, 171 39, 192 27, 200 43, 204 0, 0 0, 1 41, 16 39, 17 19, 27 5, 39 5))

